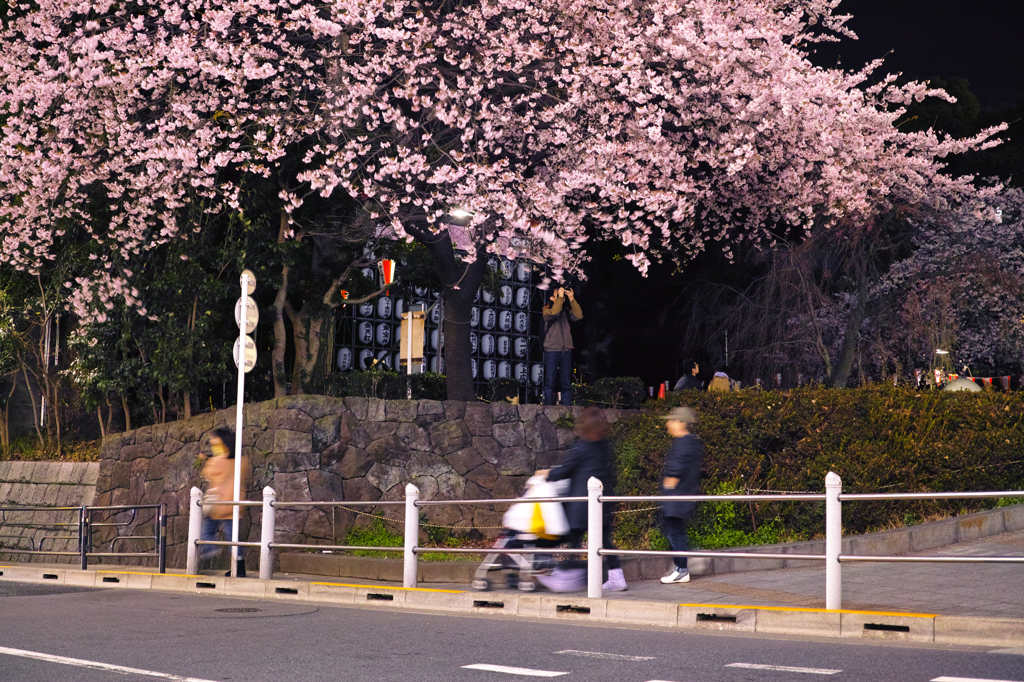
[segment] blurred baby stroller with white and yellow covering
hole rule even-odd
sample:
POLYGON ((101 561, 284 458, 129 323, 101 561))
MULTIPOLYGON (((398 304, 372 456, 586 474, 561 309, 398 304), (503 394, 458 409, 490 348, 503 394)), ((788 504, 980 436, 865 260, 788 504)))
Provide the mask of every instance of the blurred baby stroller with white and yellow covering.
MULTIPOLYGON (((537 589, 534 580, 539 571, 550 567, 551 556, 546 554, 504 553, 503 549, 555 548, 562 544, 569 530, 565 510, 560 502, 528 502, 529 498, 555 498, 564 492, 565 485, 550 483, 542 476, 532 476, 526 481, 523 502, 518 502, 505 512, 502 525, 505 530, 495 542, 495 552, 483 557, 473 574, 473 589, 486 591, 492 587, 490 571, 504 573, 505 584, 523 592, 537 589)), ((568 481, 564 481, 568 483, 568 481)))

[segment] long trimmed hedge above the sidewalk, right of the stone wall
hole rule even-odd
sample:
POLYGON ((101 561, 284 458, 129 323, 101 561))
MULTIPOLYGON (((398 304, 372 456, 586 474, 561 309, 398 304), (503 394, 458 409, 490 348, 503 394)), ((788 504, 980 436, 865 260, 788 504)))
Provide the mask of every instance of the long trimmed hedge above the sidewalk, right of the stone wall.
MULTIPOLYGON (((846 493, 1020 491, 1024 487, 1024 399, 1020 393, 949 393, 893 387, 804 388, 736 393, 687 391, 648 402, 615 424, 618 495, 656 495, 670 438, 657 418, 686 404, 699 417, 703 492, 821 493, 835 471, 846 493)), ((1013 496, 1008 496, 1008 498, 1013 496)), ((843 505, 844 531, 869 532, 904 519, 968 513, 994 501, 922 500, 843 505)), ((616 515, 626 548, 653 546, 656 505, 616 515)), ((698 505, 694 540, 807 540, 824 531, 823 503, 698 505), (731 508, 731 509, 730 509, 731 508)))

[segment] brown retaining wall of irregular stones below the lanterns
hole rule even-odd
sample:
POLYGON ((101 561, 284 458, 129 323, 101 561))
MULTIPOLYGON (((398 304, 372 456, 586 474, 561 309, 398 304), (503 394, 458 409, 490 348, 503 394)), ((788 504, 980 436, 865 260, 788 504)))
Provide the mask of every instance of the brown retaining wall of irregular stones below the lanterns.
MULTIPOLYGON (((559 428, 581 408, 438 400, 379 400, 289 396, 247 406, 243 452, 248 500, 269 485, 279 501, 401 500, 407 483, 423 500, 517 497, 538 468, 557 464, 575 439, 559 428)), ((606 411, 609 422, 621 411, 606 411)), ((146 426, 103 440, 97 505, 164 503, 168 565, 182 567, 193 485, 201 486, 201 453, 211 431, 233 425, 224 410, 166 425, 146 426)), ((392 529, 397 506, 379 508, 392 529)), ((351 525, 368 524, 374 508, 276 510, 276 541, 342 544, 351 525), (359 514, 356 512, 364 512, 359 514)), ((489 505, 425 508, 428 523, 494 536, 502 512, 489 505)), ((259 508, 245 508, 240 537, 259 541, 259 508)), ((142 516, 139 523, 151 523, 142 516)), ((113 537, 113 529, 108 535, 113 537)), ((122 530, 122 535, 126 535, 122 530)), ((105 540, 105 536, 100 540, 105 540)), ((249 553, 255 565, 256 553, 249 553)))

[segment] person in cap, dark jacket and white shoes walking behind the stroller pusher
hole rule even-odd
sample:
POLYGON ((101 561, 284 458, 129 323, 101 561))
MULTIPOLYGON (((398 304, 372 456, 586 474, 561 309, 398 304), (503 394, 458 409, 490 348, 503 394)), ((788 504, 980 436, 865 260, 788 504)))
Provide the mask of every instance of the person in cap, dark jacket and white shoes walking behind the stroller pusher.
MULTIPOLYGON (((690 433, 690 425, 697 421, 696 414, 689 408, 674 408, 664 417, 666 428, 672 436, 672 446, 665 456, 665 469, 662 476, 662 495, 697 495, 700 486, 700 462, 703 459, 703 444, 700 439, 690 433)), ((662 503, 662 516, 665 521, 666 535, 669 537, 669 547, 673 552, 688 552, 690 549, 686 526, 695 502, 666 501, 662 503)), ((686 557, 677 556, 676 568, 662 579, 666 585, 674 583, 689 583, 690 572, 686 567, 686 557)))

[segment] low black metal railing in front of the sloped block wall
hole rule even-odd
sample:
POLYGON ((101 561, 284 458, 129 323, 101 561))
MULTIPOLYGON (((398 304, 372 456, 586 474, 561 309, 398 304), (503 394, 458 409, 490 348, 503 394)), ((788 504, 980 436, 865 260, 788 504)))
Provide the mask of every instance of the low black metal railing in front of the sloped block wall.
MULTIPOLYGON (((56 526, 77 526, 78 534, 74 536, 41 536, 38 541, 34 541, 29 536, 13 536, 2 534, 0 538, 18 538, 29 543, 30 549, 17 547, 5 547, 0 545, 0 554, 27 554, 30 556, 77 556, 80 559, 82 569, 89 567, 90 557, 154 557, 157 559, 157 566, 160 572, 167 571, 167 514, 164 505, 111 505, 104 507, 0 507, 0 527, 18 526, 33 529, 51 529, 56 526), (154 535, 152 536, 122 536, 118 535, 110 541, 110 551, 93 551, 93 528, 116 527, 125 528, 135 522, 135 516, 140 509, 153 509, 155 518, 153 521, 154 535), (44 513, 44 512, 76 512, 78 519, 69 522, 17 522, 8 518, 7 514, 15 513, 44 513), (106 512, 105 516, 116 516, 122 512, 129 512, 127 521, 97 521, 94 514, 106 512), (44 550, 43 543, 55 540, 75 540, 77 549, 75 551, 44 550), (153 551, 150 552, 115 552, 114 545, 120 541, 146 541, 154 544, 153 551)), ((120 530, 119 530, 120 532, 120 530)))

